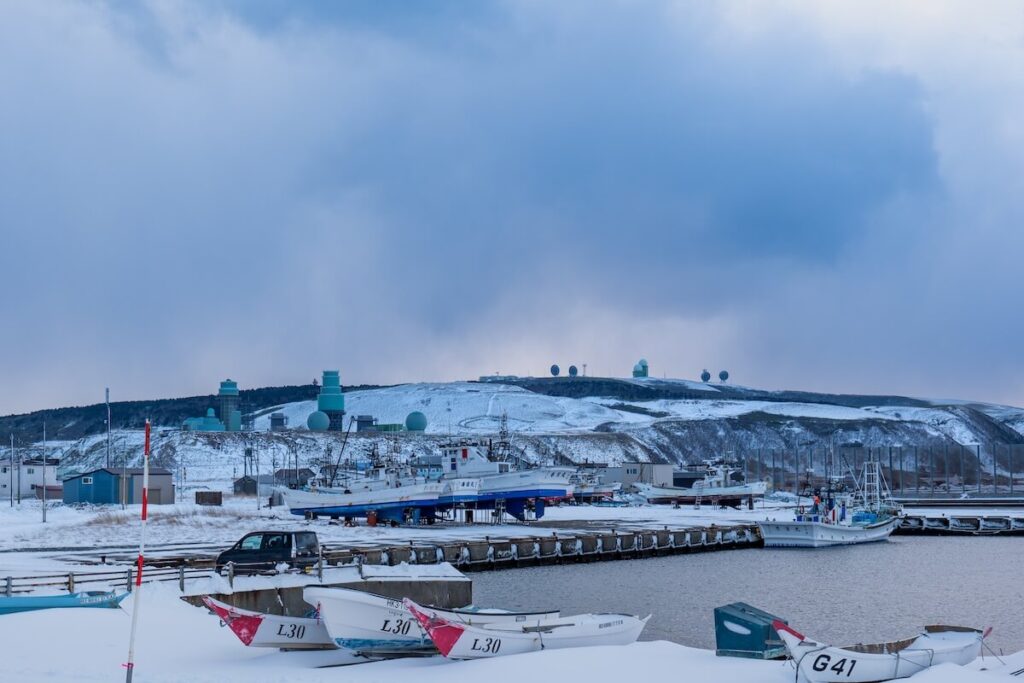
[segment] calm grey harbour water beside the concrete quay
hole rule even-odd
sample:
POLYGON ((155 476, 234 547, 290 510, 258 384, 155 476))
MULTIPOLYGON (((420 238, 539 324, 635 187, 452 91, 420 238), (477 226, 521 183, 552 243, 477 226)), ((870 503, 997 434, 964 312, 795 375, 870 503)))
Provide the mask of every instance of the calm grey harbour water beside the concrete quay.
POLYGON ((714 608, 742 601, 841 645, 953 624, 993 627, 988 643, 996 651, 1024 649, 1019 537, 895 537, 843 548, 757 548, 471 577, 478 605, 653 614, 642 640, 696 647, 715 646, 714 608))

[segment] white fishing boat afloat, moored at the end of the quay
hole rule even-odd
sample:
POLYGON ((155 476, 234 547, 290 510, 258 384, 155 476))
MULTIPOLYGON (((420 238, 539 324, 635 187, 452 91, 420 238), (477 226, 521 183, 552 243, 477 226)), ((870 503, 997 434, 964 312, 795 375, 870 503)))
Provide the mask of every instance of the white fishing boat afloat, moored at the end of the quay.
POLYGON ((900 523, 901 510, 892 501, 879 463, 864 463, 855 493, 815 497, 808 510, 793 519, 759 521, 768 548, 824 548, 887 540, 900 523))

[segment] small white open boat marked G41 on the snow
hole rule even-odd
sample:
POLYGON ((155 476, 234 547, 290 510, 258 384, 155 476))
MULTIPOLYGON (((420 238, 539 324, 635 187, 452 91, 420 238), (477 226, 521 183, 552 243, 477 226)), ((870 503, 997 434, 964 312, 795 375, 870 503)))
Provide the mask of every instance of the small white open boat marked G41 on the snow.
POLYGON ((907 678, 940 664, 965 666, 981 654, 988 632, 956 626, 927 626, 915 638, 890 643, 834 647, 808 640, 782 622, 778 633, 797 667, 798 682, 868 683, 907 678))

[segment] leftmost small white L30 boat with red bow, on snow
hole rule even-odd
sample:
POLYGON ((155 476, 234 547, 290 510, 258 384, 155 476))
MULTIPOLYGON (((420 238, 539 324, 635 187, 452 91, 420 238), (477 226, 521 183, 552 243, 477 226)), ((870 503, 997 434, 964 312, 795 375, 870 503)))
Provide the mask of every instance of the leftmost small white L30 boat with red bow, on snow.
POLYGON ((285 650, 335 649, 337 645, 327 632, 315 610, 306 616, 267 614, 220 602, 210 596, 203 604, 220 617, 248 647, 276 647, 285 650))

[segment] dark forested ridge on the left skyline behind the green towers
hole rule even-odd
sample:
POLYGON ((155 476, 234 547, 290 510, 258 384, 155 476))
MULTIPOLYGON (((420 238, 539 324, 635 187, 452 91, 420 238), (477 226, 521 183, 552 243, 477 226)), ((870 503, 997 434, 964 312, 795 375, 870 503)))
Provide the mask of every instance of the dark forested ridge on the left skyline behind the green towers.
MULTIPOLYGON (((345 387, 346 391, 371 389, 376 386, 345 387)), ((242 389, 240 400, 243 413, 260 414, 276 405, 314 399, 319 387, 313 384, 296 386, 263 387, 242 389)), ((114 429, 140 428, 145 419, 153 420, 161 427, 178 427, 185 418, 206 415, 209 408, 217 407, 215 394, 206 396, 185 396, 182 398, 156 398, 152 400, 126 400, 111 403, 111 426, 114 429)), ((50 439, 74 440, 106 429, 106 405, 80 405, 36 411, 24 415, 9 415, 0 418, 0 443, 6 442, 7 435, 13 433, 19 442, 38 441, 43 437, 43 423, 46 436, 50 439)))

